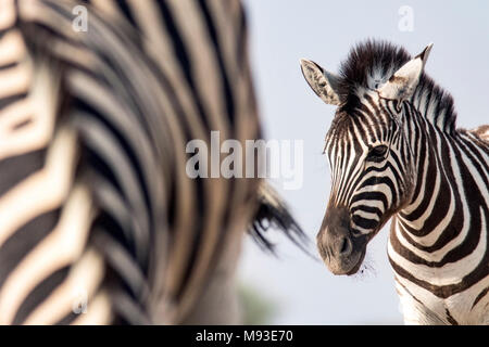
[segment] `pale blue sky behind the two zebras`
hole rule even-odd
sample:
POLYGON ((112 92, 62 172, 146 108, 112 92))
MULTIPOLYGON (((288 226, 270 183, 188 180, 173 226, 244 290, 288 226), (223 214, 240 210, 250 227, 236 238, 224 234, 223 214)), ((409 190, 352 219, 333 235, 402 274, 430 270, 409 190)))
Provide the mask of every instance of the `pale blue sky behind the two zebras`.
MULTIPOLYGON (((255 86, 267 139, 304 141, 304 184, 281 191, 314 241, 329 195, 329 168, 321 154, 335 108, 306 86, 299 59, 336 72, 365 38, 387 39, 412 54, 434 42, 426 72, 455 100, 457 125, 489 124, 489 1, 244 0, 255 86), (402 5, 414 11, 414 30, 400 31, 402 5)), ((279 183, 279 182, 278 182, 279 183)), ((373 270, 363 278, 334 277, 326 267, 278 239, 280 259, 247 242, 240 278, 276 301, 274 323, 402 323, 387 260, 388 227, 369 244, 373 270)), ((313 248, 315 250, 315 248, 313 248)))

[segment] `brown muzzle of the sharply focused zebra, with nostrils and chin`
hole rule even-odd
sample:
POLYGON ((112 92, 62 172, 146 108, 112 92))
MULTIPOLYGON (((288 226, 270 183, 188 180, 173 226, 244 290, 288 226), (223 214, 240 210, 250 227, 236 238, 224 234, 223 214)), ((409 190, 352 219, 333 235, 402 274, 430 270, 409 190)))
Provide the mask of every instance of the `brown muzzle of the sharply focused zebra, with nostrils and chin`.
POLYGON ((353 235, 349 226, 347 208, 329 207, 316 236, 319 255, 334 274, 356 273, 365 258, 367 236, 353 235))

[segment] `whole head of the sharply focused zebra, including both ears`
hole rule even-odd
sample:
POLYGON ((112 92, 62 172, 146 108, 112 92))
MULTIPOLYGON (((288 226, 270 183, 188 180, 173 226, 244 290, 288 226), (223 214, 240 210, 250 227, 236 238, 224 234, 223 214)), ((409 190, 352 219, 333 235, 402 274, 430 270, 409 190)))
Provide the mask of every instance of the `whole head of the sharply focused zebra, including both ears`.
POLYGON ((335 274, 359 271, 367 243, 413 194, 403 123, 431 44, 414 59, 391 48, 373 41, 356 47, 339 75, 301 60, 313 91, 337 106, 324 151, 331 192, 317 234, 319 254, 335 274))

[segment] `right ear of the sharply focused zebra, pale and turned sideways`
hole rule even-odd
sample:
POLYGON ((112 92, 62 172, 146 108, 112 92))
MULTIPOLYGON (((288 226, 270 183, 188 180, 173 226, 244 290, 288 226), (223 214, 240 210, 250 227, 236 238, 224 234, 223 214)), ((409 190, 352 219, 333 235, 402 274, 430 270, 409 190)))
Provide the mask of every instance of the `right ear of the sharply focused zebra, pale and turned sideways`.
POLYGON ((389 80, 379 88, 379 94, 386 99, 404 100, 409 99, 416 89, 419 77, 428 60, 432 43, 429 43, 423 52, 398 69, 389 80))

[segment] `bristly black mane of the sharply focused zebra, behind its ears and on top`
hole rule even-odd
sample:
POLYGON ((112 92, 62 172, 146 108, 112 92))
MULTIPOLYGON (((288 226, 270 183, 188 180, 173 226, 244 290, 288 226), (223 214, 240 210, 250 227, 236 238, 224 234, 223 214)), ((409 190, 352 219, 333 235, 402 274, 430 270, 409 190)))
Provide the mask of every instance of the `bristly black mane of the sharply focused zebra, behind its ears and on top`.
MULTIPOLYGON (((408 51, 387 41, 365 40, 356 44, 341 63, 337 92, 342 101, 342 111, 348 112, 360 105, 359 89, 376 89, 376 85, 386 82, 392 74, 411 60, 408 51)), ((418 110, 435 125, 442 125, 443 130, 452 131, 455 127, 456 114, 453 98, 423 73, 413 94, 412 102, 425 94, 427 102, 418 110), (434 110, 427 114, 428 105, 434 110), (439 117, 443 121, 439 123, 439 117)))

